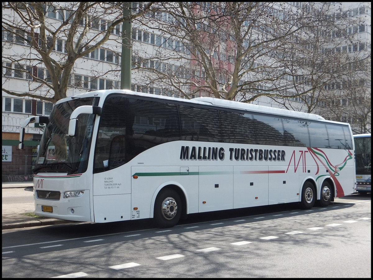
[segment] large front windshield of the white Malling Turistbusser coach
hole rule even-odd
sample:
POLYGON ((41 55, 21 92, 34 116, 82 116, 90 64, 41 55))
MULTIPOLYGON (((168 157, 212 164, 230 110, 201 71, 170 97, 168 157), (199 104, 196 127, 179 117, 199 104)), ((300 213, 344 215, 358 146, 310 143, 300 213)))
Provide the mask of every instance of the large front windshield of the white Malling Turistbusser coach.
POLYGON ((70 115, 83 105, 97 105, 99 98, 75 98, 54 105, 38 149, 38 157, 33 170, 38 172, 82 173, 87 170, 89 148, 95 115, 82 114, 76 134, 68 134, 70 115))

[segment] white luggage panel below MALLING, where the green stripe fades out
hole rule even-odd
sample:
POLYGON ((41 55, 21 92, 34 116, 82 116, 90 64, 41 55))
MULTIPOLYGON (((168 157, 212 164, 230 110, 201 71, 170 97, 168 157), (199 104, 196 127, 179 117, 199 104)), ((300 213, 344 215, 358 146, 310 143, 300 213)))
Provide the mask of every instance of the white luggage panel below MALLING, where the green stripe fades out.
POLYGON ((200 213, 233 209, 233 166, 200 166, 199 177, 200 213))

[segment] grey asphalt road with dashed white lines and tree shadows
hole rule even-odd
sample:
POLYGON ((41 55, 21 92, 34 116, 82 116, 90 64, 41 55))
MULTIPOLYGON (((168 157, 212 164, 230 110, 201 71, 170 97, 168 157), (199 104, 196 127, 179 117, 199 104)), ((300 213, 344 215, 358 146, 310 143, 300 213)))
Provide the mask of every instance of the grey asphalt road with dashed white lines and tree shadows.
POLYGON ((370 195, 283 207, 3 230, 2 276, 371 278, 370 195))

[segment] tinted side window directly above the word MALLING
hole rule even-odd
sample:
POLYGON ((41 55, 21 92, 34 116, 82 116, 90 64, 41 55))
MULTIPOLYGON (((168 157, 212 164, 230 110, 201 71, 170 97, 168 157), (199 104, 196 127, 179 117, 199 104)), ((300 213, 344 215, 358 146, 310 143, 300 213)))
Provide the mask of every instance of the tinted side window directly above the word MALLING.
POLYGON ((182 140, 217 142, 221 140, 216 109, 179 105, 182 140))

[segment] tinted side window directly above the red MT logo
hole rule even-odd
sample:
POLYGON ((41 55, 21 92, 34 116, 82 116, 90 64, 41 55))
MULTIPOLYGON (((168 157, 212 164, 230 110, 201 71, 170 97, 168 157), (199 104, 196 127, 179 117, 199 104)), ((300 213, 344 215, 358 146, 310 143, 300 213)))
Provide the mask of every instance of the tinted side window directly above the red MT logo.
POLYGON ((309 147, 310 135, 308 134, 309 121, 283 119, 286 146, 309 147))

